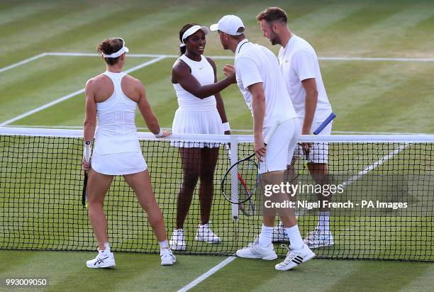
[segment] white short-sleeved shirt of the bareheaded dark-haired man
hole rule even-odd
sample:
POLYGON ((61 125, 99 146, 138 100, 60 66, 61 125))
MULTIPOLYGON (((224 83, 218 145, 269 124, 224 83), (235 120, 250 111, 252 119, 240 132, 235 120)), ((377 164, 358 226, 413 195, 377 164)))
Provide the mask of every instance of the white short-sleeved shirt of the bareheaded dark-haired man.
POLYGON ((323 122, 332 113, 332 108, 325 93, 318 57, 313 47, 303 38, 292 35, 286 46, 279 50, 279 64, 283 70, 286 88, 299 118, 304 118, 306 101, 306 90, 304 90, 301 81, 315 78, 318 103, 313 122, 323 122))

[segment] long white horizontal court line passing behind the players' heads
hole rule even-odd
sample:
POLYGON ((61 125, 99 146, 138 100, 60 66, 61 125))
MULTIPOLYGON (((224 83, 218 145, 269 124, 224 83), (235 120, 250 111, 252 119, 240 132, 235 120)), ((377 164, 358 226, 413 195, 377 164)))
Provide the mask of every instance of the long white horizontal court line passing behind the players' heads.
MULTIPOLYGON (((100 57, 101 55, 91 52, 47 52, 50 56, 82 56, 100 57)), ((167 57, 177 58, 179 55, 158 54, 128 54, 128 57, 167 57)), ((208 56, 213 59, 233 59, 233 56, 208 56)), ((330 61, 370 61, 370 62, 434 62, 434 58, 396 58, 396 57, 318 57, 318 60, 330 61)))

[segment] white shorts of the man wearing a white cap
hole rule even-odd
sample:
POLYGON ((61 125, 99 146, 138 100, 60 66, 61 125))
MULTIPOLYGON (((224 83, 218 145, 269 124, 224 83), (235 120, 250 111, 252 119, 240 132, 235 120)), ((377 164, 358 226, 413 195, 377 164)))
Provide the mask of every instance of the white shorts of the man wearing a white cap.
MULTIPOLYGON (((263 131, 264 138, 270 128, 263 131)), ((260 162, 259 173, 276 172, 286 170, 286 162, 291 159, 300 136, 300 125, 297 118, 284 121, 269 140, 264 161, 260 162)))

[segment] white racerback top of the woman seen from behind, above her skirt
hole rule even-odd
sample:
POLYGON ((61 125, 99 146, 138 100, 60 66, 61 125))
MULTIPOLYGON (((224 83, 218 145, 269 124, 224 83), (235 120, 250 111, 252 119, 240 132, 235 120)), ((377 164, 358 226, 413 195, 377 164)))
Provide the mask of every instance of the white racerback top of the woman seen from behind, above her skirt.
POLYGON ((126 73, 104 72, 113 82, 113 94, 104 102, 96 103, 96 128, 94 153, 112 154, 141 152, 135 128, 137 103, 126 96, 121 80, 126 73))

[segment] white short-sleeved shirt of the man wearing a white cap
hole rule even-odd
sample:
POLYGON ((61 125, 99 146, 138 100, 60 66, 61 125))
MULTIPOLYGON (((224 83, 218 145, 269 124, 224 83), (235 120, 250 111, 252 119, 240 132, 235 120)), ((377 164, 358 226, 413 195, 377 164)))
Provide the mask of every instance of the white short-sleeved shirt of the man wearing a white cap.
POLYGON ((242 40, 235 50, 235 71, 238 87, 250 111, 252 94, 247 87, 262 82, 265 92, 264 128, 272 127, 274 120, 284 122, 296 118, 279 62, 267 47, 242 40))

